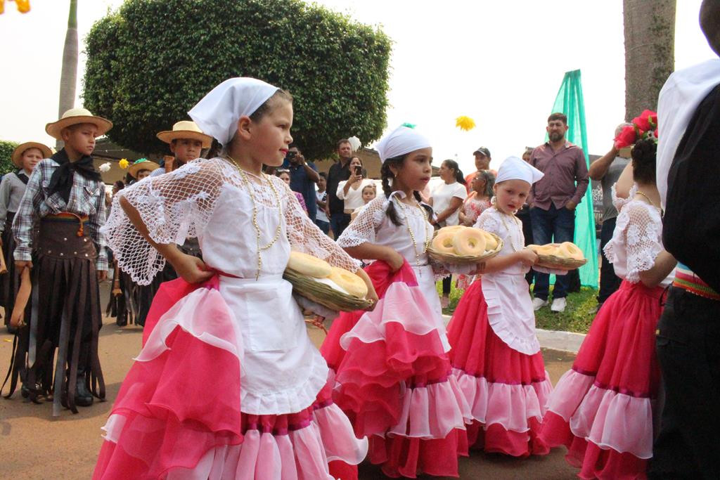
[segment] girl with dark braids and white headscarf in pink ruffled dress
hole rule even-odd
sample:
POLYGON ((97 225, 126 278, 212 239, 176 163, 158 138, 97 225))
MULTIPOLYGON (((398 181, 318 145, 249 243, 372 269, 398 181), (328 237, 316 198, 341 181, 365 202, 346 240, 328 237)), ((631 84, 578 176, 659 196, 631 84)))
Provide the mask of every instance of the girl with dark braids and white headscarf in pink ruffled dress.
MULTIPOLYGON (((420 201, 431 177, 430 142, 398 127, 377 145, 384 195, 366 204, 338 238, 366 268, 380 300, 372 312, 341 314, 320 352, 336 371, 333 397, 367 436, 369 459, 385 475, 458 476, 467 455, 469 408, 449 375, 449 343, 428 263, 429 206, 420 201)), ((474 268, 473 268, 474 269, 474 268)))

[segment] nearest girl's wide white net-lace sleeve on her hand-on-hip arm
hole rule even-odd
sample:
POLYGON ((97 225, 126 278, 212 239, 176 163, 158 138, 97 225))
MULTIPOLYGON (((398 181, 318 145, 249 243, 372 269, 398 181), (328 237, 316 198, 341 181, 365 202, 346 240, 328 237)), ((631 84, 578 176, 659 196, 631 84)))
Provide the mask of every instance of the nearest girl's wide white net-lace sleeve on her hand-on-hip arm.
POLYGON ((145 178, 115 196, 102 232, 118 266, 133 281, 150 284, 165 266, 165 258, 132 225, 120 207, 120 197, 138 210, 153 241, 181 244, 207 225, 220 195, 224 166, 217 158, 199 158, 171 173, 145 178))

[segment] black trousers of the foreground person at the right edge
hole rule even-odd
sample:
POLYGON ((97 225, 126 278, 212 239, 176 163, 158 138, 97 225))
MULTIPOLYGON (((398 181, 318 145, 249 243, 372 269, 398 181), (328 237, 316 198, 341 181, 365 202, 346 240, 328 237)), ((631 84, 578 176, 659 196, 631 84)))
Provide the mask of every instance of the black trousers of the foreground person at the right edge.
POLYGON ((720 302, 671 287, 657 324, 665 384, 650 479, 720 479, 720 302))

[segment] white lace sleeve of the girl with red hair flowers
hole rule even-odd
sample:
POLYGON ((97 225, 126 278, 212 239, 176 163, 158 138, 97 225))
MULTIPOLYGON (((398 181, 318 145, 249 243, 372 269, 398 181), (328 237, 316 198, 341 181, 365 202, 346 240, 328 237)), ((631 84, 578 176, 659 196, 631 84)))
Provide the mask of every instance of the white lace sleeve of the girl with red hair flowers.
POLYGON ((640 272, 647 271, 655 264, 657 254, 662 251, 660 244, 660 214, 657 219, 649 209, 637 202, 626 204, 625 214, 628 217, 625 230, 627 245, 626 280, 636 283, 640 281, 640 272))

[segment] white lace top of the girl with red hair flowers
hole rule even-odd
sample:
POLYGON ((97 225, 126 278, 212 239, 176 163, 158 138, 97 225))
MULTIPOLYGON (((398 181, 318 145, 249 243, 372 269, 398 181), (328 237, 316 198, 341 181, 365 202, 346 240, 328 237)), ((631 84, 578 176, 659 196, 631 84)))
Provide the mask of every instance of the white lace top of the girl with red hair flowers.
MULTIPOLYGON (((636 191, 635 185, 618 214, 613 238, 603 250, 615 274, 634 284, 640 281, 640 272, 652 268, 657 254, 664 249, 660 211, 645 201, 633 199, 636 191)), ((660 286, 670 285, 674 278, 673 269, 660 286)))

